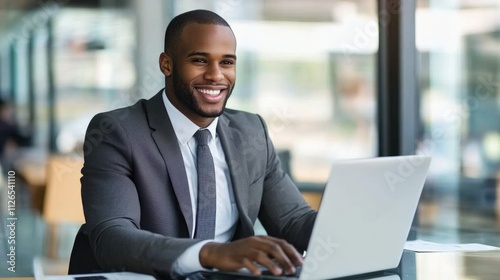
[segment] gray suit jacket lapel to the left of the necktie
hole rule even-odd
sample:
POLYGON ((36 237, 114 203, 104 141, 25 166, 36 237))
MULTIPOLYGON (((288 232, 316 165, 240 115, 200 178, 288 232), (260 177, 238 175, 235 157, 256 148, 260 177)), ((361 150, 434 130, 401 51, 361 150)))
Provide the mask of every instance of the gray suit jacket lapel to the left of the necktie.
POLYGON ((193 210, 189 194, 189 184, 186 176, 186 169, 182 159, 181 150, 177 141, 167 110, 163 105, 163 90, 146 102, 146 114, 151 133, 158 150, 167 166, 172 187, 174 189, 179 206, 181 208, 189 235, 193 235, 193 210))

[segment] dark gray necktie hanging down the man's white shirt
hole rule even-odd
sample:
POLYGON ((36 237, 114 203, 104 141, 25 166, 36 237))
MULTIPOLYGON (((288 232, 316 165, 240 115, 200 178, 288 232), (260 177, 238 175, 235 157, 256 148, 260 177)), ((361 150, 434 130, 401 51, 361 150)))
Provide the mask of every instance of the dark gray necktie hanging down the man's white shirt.
POLYGON ((196 170, 198 173, 198 209, 194 238, 213 239, 215 236, 215 167, 208 141, 212 138, 207 129, 198 130, 196 139, 196 170))

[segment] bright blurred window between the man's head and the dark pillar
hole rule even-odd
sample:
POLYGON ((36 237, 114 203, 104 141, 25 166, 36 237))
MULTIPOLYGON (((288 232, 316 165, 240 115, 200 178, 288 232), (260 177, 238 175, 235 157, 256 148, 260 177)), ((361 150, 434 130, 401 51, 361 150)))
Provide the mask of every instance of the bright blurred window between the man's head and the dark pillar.
POLYGON ((206 8, 229 21, 238 78, 228 107, 264 117, 299 186, 322 186, 335 159, 376 155, 376 1, 174 6, 175 14, 206 8))

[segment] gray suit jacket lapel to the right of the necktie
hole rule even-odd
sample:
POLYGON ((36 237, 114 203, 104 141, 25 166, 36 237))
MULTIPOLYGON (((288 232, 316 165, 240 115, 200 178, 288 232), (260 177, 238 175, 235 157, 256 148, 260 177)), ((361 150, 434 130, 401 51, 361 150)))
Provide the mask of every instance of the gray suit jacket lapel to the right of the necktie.
POLYGON ((245 151, 241 135, 236 129, 231 128, 231 122, 224 114, 219 118, 217 134, 220 137, 222 149, 226 157, 226 162, 231 174, 231 182, 234 190, 234 197, 240 216, 240 226, 238 229, 243 233, 253 234, 252 221, 248 217, 248 172, 245 151))

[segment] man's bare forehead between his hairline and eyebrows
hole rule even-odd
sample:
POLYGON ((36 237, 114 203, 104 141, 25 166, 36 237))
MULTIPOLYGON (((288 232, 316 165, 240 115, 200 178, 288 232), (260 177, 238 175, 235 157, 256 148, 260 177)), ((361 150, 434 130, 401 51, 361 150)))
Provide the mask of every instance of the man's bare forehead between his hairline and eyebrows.
POLYGON ((190 23, 182 29, 177 51, 234 54, 236 38, 227 26, 190 23))

